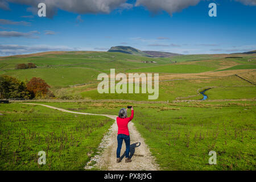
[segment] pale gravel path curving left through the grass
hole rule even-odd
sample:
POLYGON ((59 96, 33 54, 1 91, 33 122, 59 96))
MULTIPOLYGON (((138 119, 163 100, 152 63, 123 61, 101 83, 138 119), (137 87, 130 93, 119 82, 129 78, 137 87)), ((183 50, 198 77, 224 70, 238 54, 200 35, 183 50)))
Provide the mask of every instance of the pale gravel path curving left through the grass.
MULTIPOLYGON (((34 103, 23 103, 28 105, 40 105, 59 111, 84 114, 84 115, 102 115, 116 121, 117 116, 108 114, 92 114, 92 113, 80 113, 75 111, 69 111, 60 109, 44 104, 34 103)), ((110 127, 109 132, 102 138, 99 148, 103 149, 99 155, 94 156, 90 162, 85 165, 85 169, 97 167, 108 171, 157 171, 160 170, 159 165, 155 163, 155 158, 151 155, 151 152, 141 137, 141 134, 137 131, 133 122, 129 122, 129 133, 130 133, 130 155, 131 163, 125 163, 125 142, 123 142, 121 150, 121 163, 116 163, 116 150, 117 150, 117 122, 114 122, 110 127), (96 162, 93 166, 90 165, 92 162, 96 162)))

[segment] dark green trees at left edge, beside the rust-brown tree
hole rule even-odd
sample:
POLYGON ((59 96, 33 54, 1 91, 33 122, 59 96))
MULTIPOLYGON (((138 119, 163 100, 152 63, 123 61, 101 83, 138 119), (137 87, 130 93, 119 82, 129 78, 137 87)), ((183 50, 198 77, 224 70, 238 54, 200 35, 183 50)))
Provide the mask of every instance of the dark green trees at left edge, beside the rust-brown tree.
POLYGON ((11 76, 0 76, 0 98, 31 98, 26 84, 11 76))

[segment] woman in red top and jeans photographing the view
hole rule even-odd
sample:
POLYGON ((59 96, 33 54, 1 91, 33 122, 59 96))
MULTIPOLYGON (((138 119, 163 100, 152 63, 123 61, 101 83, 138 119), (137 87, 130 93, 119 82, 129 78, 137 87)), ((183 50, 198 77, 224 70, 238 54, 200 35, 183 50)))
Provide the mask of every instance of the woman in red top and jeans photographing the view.
POLYGON ((118 133, 117 133, 117 163, 121 162, 120 159, 120 152, 122 148, 123 139, 125 140, 126 151, 125 151, 125 162, 130 163, 131 159, 129 158, 130 152, 130 135, 128 130, 128 123, 133 119, 134 110, 131 107, 131 116, 127 118, 127 108, 122 108, 119 111, 117 117, 117 126, 118 126, 118 133))

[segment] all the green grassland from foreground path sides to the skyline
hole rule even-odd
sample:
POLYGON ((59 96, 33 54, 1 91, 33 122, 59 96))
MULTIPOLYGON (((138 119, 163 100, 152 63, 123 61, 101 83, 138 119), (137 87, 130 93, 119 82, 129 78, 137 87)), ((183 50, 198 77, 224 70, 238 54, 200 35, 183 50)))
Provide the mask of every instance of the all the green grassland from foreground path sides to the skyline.
MULTIPOLYGON (((0 57, 0 75, 22 81, 41 77, 55 94, 51 100, 23 102, 113 115, 133 105, 133 122, 162 170, 256 170, 255 57, 52 52, 0 57), (21 63, 37 68, 15 69, 21 63), (149 101, 148 93, 99 94, 97 76, 109 74, 110 68, 116 73, 159 73, 158 99, 149 101), (208 98, 200 101, 205 89, 208 98), (212 150, 217 165, 208 163, 212 150)), ((83 170, 113 123, 106 117, 15 101, 0 104, 0 113, 1 170, 83 170), (39 166, 41 150, 48 162, 39 166)))

